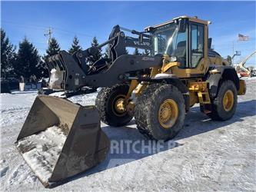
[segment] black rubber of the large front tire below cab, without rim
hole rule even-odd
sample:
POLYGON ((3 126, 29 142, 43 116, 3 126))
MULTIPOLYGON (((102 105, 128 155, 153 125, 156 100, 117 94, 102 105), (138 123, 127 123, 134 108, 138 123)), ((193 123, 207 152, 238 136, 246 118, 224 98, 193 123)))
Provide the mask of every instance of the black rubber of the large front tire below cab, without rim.
POLYGON ((156 84, 148 86, 136 102, 135 121, 138 130, 146 137, 155 140, 168 141, 178 134, 184 125, 185 101, 181 92, 171 84, 156 84), (158 110, 161 104, 171 99, 178 107, 178 118, 171 127, 164 128, 158 121, 158 110))

